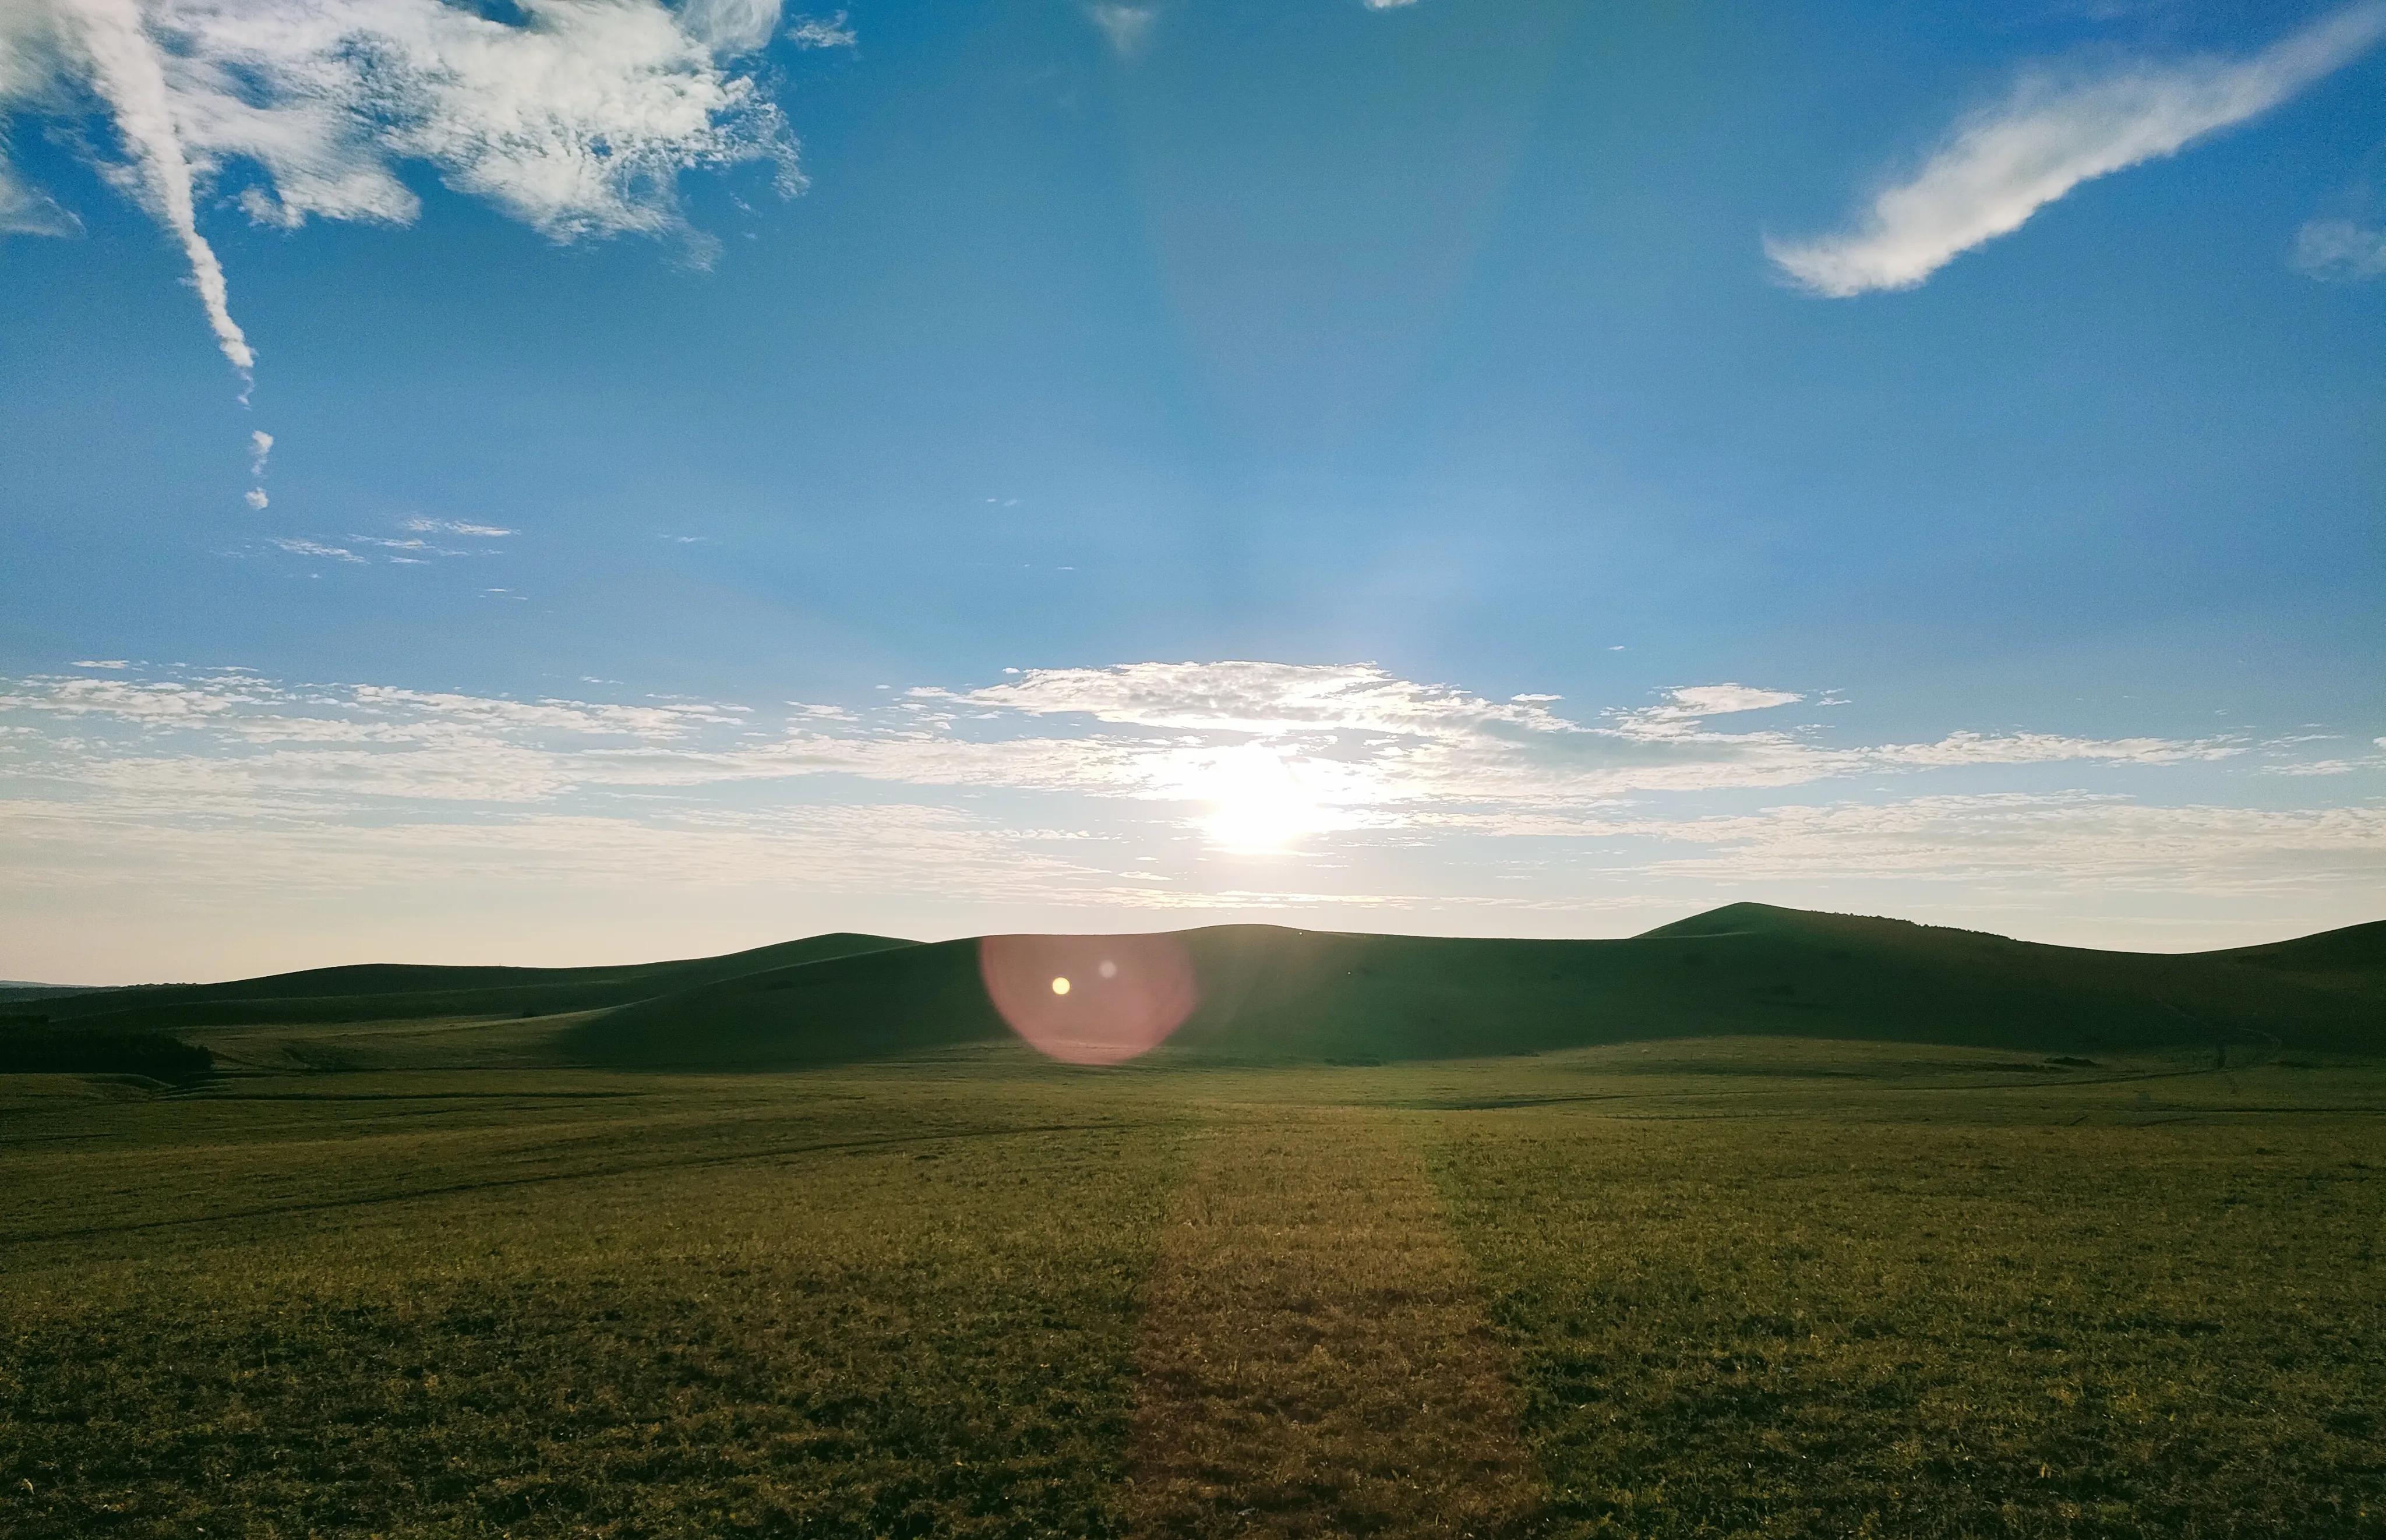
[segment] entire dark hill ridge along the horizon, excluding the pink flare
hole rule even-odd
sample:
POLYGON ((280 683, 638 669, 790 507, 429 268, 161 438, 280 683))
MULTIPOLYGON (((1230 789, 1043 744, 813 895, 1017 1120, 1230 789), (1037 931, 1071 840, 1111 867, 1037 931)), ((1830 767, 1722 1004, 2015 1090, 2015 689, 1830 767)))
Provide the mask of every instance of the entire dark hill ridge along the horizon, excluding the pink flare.
MULTIPOLYGON (((1730 903, 1615 942, 1172 932, 1200 1004, 1155 1063, 1401 1061, 1692 1035, 2386 1051, 2386 923, 2205 954, 1730 903)), ((1098 939, 1086 939, 1100 951, 1098 939)), ((554 1049, 613 1068, 787 1068, 1007 1039, 978 939, 826 934, 620 968, 313 968, 0 1004, 55 1027, 184 1030, 573 1016, 554 1049)))

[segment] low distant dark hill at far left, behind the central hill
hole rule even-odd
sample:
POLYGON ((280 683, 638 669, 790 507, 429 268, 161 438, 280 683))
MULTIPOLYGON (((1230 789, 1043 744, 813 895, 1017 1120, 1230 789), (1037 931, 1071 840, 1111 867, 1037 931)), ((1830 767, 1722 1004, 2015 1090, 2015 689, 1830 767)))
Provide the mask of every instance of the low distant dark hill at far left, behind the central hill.
POLYGON ((740 973, 761 973, 861 951, 911 946, 890 937, 823 934, 752 951, 611 968, 439 968, 358 963, 308 968, 227 985, 141 985, 0 1004, 14 1023, 110 1030, 422 1020, 429 1016, 554 1016, 675 994, 740 973))

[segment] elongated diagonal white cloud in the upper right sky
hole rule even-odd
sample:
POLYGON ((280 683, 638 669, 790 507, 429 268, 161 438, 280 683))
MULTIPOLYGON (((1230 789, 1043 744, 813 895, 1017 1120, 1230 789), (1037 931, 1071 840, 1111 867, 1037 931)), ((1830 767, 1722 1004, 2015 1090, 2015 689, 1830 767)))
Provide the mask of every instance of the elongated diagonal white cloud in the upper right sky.
POLYGON ((2365 0, 2250 60, 2133 64, 2073 81, 2030 76, 1999 107, 1959 122, 1914 176, 1873 195, 1852 229, 1816 241, 1768 238, 1766 253, 1821 296, 1914 288, 2078 184, 2267 112, 2379 38, 2386 5, 2365 0))

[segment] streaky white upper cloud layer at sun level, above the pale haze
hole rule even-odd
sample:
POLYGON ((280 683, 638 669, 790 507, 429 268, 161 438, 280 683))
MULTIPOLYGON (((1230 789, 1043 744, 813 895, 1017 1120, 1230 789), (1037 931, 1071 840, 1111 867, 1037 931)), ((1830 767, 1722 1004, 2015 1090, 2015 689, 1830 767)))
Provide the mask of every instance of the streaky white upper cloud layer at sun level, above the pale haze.
MULTIPOLYGON (((303 541, 293 541, 305 546, 303 541)), ((327 553, 336 548, 310 548, 327 553)), ((360 560, 348 553, 344 560, 360 560)), ((1725 691, 1751 708, 1751 687, 1725 691)), ((1673 708, 1696 689, 1668 691, 1673 708)), ((1663 710, 1663 708, 1661 708, 1663 710)), ((1281 777, 1317 830, 1434 827, 1429 813, 1549 818, 1615 799, 1794 787, 1854 775, 1983 765, 2176 765, 2245 751, 2233 739, 2081 739, 1954 732, 1923 744, 1823 744, 1785 729, 1723 732, 1704 718, 1613 713, 1584 725, 1544 703, 1486 701, 1374 665, 1138 663, 1028 670, 969 691, 911 689, 869 710, 728 703, 511 701, 377 684, 296 687, 248 672, 41 677, 0 694, 17 722, 72 718, 200 732, 160 756, 93 749, 117 784, 367 789, 375 796, 558 796, 847 777, 911 789, 988 789, 1203 803, 1253 775, 1281 777), (470 768, 472 772, 465 772, 470 768)), ((122 744, 119 744, 122 749, 122 744)), ((1198 827, 1193 815, 1176 815, 1198 827)))

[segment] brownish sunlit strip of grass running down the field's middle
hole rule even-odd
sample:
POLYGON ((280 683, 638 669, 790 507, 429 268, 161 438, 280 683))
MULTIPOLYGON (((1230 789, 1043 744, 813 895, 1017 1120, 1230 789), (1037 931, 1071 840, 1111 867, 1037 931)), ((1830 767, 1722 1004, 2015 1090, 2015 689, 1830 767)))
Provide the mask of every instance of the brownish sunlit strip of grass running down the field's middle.
POLYGON ((1537 1507, 1475 1275, 1391 1116, 1219 1125, 1138 1361, 1138 1533, 1510 1535, 1537 1507))

